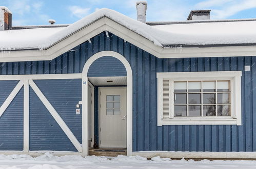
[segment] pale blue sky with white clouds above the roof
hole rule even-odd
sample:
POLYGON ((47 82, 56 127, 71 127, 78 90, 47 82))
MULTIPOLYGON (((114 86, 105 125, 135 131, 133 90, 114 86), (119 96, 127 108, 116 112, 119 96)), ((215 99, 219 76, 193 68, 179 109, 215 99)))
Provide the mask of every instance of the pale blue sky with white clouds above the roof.
MULTIPOLYGON (((12 11, 12 24, 72 24, 109 8, 136 19, 137 0, 0 0, 12 11)), ((148 0, 147 21, 186 20, 190 10, 211 9, 211 19, 256 18, 256 0, 148 0)))

